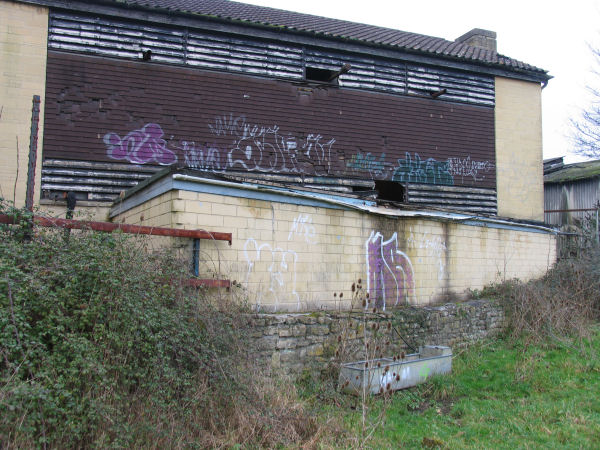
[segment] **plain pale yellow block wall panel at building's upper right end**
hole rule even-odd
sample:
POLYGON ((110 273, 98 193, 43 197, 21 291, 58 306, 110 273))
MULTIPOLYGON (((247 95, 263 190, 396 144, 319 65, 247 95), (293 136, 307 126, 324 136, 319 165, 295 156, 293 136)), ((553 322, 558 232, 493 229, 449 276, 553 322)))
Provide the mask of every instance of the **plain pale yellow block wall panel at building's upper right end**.
POLYGON ((539 83, 496 77, 498 215, 544 220, 539 83))

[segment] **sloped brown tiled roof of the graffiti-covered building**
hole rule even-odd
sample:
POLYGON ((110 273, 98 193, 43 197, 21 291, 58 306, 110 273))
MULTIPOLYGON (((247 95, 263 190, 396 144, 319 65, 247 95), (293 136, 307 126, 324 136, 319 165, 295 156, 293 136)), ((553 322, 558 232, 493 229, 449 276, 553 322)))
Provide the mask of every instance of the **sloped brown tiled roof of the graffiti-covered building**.
POLYGON ((546 77, 550 78, 547 71, 500 55, 496 51, 442 38, 346 20, 330 19, 228 0, 114 0, 114 2, 129 6, 242 21, 255 25, 287 28, 332 38, 396 47, 406 51, 458 58, 475 63, 500 66, 508 70, 537 72, 542 76, 546 74, 546 77))

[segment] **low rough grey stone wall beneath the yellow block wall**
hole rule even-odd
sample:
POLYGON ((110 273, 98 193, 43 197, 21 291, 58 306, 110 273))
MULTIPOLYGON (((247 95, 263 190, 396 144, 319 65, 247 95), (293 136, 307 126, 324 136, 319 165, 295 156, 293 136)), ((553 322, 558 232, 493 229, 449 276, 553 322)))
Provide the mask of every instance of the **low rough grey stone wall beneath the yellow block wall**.
MULTIPOLYGON (((442 306, 405 307, 387 312, 316 312, 257 314, 251 320, 254 352, 259 361, 291 375, 304 369, 318 373, 346 345, 344 359, 364 359, 364 327, 379 323, 387 335, 392 356, 412 353, 413 347, 448 345, 453 351, 497 335, 504 327, 504 311, 489 300, 471 300, 442 306), (392 324, 388 331, 387 323, 392 324), (350 326, 349 323, 352 323, 350 326)), ((369 335, 368 335, 369 336, 369 335)))

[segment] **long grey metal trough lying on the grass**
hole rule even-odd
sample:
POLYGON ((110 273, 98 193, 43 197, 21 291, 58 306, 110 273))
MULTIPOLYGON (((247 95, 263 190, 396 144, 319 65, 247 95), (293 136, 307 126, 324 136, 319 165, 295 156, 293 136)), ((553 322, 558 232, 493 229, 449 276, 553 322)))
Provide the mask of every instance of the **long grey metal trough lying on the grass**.
POLYGON ((396 391, 423 383, 432 375, 450 373, 452 350, 441 345, 427 345, 419 353, 406 355, 404 359, 380 358, 342 364, 339 386, 343 392, 360 394, 366 388, 371 394, 380 389, 396 391), (387 367, 387 369, 386 369, 387 367))

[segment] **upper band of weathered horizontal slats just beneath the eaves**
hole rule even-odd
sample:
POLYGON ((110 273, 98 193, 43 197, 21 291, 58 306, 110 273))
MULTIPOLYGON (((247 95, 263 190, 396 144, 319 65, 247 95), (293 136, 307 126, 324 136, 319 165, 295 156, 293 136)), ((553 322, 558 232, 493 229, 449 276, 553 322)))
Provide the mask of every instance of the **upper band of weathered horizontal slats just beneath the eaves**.
POLYGON ((350 72, 339 78, 340 86, 405 95, 446 88, 447 100, 494 105, 490 76, 140 21, 54 11, 48 45, 126 59, 140 58, 150 49, 153 61, 290 80, 301 80, 305 66, 337 70, 350 64, 350 72))

